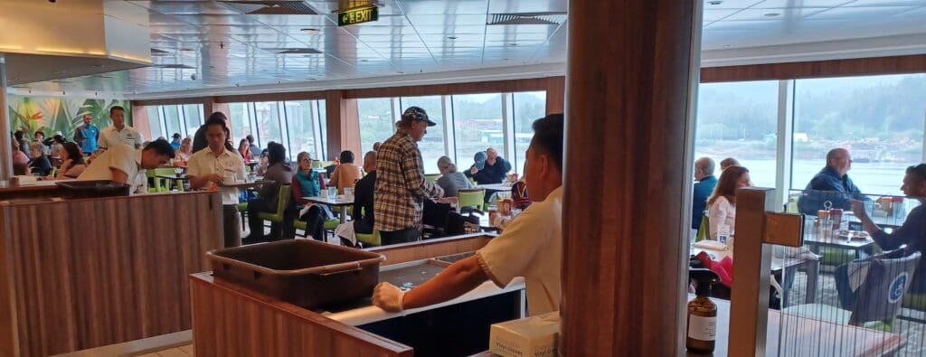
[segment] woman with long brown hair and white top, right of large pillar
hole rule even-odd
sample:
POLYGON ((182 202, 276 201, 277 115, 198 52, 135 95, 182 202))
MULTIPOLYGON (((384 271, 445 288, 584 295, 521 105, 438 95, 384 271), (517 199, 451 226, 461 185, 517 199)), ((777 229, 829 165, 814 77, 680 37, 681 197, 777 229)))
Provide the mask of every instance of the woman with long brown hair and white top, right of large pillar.
POLYGON ((708 232, 711 240, 717 240, 720 227, 727 226, 732 236, 736 229, 736 189, 751 187, 749 169, 743 166, 730 166, 720 174, 720 180, 714 192, 707 198, 707 218, 710 222, 708 232))

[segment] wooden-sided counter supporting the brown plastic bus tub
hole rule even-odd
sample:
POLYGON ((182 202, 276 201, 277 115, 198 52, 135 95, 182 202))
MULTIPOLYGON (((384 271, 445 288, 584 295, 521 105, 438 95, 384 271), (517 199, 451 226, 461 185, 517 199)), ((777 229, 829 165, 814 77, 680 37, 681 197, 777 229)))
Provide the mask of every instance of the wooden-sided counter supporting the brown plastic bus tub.
MULTIPOLYGON (((421 266, 432 258, 476 251, 493 237, 473 234, 369 252, 386 258, 380 280, 400 283, 404 274, 425 274, 421 266)), ((401 314, 383 312, 369 298, 307 310, 211 273, 194 274, 190 282, 194 350, 200 357, 469 355, 488 348, 492 324, 526 311, 520 278, 504 289, 487 281, 452 301, 401 314)))

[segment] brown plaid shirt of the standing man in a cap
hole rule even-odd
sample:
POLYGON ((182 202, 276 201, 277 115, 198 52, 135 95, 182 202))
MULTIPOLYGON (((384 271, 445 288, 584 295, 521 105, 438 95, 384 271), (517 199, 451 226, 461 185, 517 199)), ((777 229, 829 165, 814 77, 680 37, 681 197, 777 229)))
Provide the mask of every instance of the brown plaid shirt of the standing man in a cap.
POLYGON ((385 232, 421 227, 425 198, 444 190, 424 178, 421 152, 411 135, 396 132, 376 152, 376 189, 373 194, 374 228, 385 232))

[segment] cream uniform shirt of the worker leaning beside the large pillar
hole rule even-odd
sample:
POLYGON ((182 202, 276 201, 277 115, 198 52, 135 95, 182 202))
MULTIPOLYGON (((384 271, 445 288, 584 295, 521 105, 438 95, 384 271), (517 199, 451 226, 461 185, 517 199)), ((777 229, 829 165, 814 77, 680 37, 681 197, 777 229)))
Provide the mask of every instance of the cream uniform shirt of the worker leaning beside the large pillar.
POLYGON ((531 315, 559 310, 562 211, 560 186, 544 201, 532 203, 501 235, 476 252, 482 271, 499 288, 506 287, 515 277, 524 277, 531 315))

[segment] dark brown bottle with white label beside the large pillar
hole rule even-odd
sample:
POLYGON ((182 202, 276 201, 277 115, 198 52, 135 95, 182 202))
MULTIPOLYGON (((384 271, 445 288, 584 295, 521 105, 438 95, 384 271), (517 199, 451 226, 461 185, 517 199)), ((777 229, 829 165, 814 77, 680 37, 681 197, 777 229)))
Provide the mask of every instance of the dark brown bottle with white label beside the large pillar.
POLYGON ((688 302, 685 348, 693 352, 712 353, 717 342, 717 304, 710 301, 710 287, 719 283, 720 277, 708 269, 691 269, 688 277, 697 285, 697 297, 688 302))

